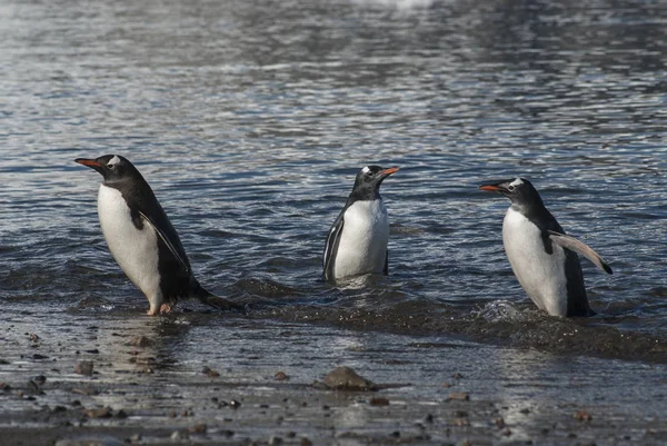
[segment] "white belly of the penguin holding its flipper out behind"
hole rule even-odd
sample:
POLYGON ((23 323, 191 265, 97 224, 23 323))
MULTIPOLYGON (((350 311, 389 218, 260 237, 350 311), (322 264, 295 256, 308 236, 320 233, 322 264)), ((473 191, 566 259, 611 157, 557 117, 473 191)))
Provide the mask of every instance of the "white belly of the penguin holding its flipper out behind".
POLYGON ((551 316, 567 315, 565 251, 551 244, 554 254, 545 251, 540 230, 512 208, 502 221, 502 242, 515 276, 539 308, 551 316))

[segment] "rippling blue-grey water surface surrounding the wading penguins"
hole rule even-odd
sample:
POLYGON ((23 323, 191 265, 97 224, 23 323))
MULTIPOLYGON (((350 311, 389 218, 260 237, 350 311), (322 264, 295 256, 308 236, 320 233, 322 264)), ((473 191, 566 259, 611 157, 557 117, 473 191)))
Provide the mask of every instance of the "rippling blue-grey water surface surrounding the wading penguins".
POLYGON ((667 360, 659 2, 8 1, 0 40, 4 315, 146 310, 73 162, 120 153, 250 318, 667 360), (390 275, 332 287, 368 163, 401 168, 390 275), (541 315, 512 276, 508 201, 477 186, 519 175, 614 268, 583 262, 597 317, 541 315))

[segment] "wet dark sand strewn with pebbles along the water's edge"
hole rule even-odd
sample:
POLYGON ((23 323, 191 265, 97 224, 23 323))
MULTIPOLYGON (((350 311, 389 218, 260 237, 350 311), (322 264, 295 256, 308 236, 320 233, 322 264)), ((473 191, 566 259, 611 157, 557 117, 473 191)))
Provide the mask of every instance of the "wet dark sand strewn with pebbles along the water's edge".
POLYGON ((667 442, 659 364, 220 315, 9 319, 2 445, 667 442), (313 385, 344 365, 379 389, 313 385))

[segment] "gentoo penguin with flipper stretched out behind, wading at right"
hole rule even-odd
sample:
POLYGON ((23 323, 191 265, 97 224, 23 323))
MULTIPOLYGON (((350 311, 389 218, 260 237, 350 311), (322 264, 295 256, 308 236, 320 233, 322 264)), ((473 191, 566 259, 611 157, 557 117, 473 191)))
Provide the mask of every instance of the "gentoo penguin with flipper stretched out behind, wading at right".
POLYGON ((535 305, 551 316, 594 316, 577 252, 611 274, 607 262, 587 245, 565 235, 527 179, 479 188, 511 200, 502 221, 502 244, 515 276, 535 305))

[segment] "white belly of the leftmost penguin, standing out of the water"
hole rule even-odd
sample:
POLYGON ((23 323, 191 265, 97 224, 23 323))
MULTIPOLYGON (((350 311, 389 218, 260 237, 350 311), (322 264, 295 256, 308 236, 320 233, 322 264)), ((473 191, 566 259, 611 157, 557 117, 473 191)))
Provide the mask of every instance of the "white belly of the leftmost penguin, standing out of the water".
POLYGON ((161 300, 157 234, 150 225, 137 229, 118 189, 100 186, 98 215, 102 234, 120 268, 143 294, 161 300))

